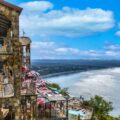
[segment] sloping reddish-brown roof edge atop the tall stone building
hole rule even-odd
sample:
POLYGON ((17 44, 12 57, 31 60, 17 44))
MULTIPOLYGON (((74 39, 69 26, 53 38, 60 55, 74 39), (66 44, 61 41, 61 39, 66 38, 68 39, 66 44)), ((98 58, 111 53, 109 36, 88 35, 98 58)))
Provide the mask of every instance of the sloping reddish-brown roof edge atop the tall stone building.
POLYGON ((4 1, 4 0, 0 0, 0 4, 6 6, 6 7, 8 7, 8 8, 11 8, 11 9, 17 11, 18 13, 21 13, 21 11, 22 11, 22 8, 21 8, 21 7, 18 7, 18 6, 16 6, 16 5, 13 5, 13 4, 11 4, 11 3, 9 3, 9 2, 6 2, 6 1, 4 1))

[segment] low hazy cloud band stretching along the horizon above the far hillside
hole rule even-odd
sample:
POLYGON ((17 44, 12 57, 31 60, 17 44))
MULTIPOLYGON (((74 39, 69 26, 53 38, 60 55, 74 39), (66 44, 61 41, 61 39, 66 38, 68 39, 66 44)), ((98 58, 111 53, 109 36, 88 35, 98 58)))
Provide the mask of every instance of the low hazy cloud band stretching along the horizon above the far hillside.
POLYGON ((105 51, 81 50, 63 46, 53 41, 33 42, 32 58, 34 59, 114 59, 120 58, 120 52, 112 49, 105 51))

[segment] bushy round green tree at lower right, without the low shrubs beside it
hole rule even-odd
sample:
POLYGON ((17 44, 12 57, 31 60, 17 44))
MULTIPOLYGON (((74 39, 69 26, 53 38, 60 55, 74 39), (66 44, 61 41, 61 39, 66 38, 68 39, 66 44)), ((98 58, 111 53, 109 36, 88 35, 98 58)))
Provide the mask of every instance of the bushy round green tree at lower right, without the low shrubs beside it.
POLYGON ((97 95, 89 100, 89 106, 93 108, 93 116, 96 116, 99 120, 105 119, 109 112, 113 110, 111 102, 107 102, 97 95))

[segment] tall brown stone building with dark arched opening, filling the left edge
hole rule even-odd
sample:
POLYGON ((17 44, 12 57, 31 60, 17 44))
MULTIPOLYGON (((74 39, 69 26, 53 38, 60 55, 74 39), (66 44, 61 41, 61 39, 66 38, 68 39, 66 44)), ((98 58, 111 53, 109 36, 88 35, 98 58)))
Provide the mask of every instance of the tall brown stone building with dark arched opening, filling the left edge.
MULTIPOLYGON (((30 43, 19 37, 19 16, 22 8, 0 0, 0 116, 9 114, 11 120, 21 120, 22 66, 30 67, 30 43), (19 39, 20 38, 20 39, 19 39), (26 51, 24 51, 26 50, 26 51), (25 52, 25 53, 24 53, 25 52), (26 55, 25 55, 26 54, 26 55), (28 57, 29 56, 29 57, 28 57), (26 57, 26 58, 25 58, 26 57)), ((25 39, 26 40, 26 39, 25 39)), ((30 102, 34 95, 30 97, 30 102)), ((25 96, 25 100, 27 97, 25 96)), ((28 101, 28 99, 26 100, 28 101)), ((25 103, 27 104, 27 102, 25 103)), ((32 108, 31 108, 32 109, 32 108)), ((27 109, 25 109, 27 111, 27 109)), ((25 115, 26 116, 26 112, 25 115)), ((31 114, 31 120, 34 116, 31 114)), ((35 113, 34 113, 35 114, 35 113)), ((8 116, 8 120, 9 119, 8 116)))

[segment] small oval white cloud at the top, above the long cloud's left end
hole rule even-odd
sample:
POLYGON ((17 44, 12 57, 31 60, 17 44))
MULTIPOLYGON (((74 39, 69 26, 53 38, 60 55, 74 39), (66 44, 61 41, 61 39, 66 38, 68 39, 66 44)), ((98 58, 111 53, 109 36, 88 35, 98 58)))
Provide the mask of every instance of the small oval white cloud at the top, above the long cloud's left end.
POLYGON ((27 12, 46 11, 53 8, 53 4, 48 1, 31 1, 21 3, 19 6, 24 8, 27 12))

